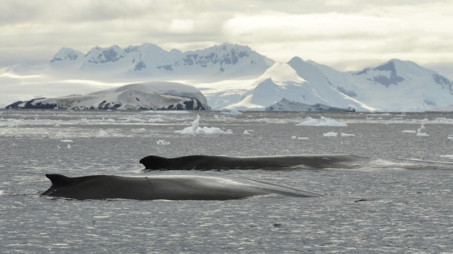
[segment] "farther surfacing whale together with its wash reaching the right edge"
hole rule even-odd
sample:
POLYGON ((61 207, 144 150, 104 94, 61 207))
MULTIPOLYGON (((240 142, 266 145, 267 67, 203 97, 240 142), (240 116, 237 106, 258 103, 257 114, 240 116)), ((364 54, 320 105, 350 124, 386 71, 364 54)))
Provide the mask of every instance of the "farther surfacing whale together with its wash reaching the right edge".
POLYGON ((348 154, 339 155, 285 155, 232 157, 211 155, 189 155, 164 158, 150 155, 140 163, 145 170, 216 170, 216 169, 413 169, 413 170, 453 170, 453 163, 398 159, 388 157, 366 157, 348 154))

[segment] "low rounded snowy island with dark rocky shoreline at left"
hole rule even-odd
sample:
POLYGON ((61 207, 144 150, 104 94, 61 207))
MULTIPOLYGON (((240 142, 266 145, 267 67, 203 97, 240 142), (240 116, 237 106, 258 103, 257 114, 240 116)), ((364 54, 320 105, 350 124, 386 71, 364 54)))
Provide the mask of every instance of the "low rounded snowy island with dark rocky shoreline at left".
POLYGON ((146 82, 124 85, 87 95, 17 101, 7 108, 210 109, 204 95, 195 87, 175 82, 146 82))

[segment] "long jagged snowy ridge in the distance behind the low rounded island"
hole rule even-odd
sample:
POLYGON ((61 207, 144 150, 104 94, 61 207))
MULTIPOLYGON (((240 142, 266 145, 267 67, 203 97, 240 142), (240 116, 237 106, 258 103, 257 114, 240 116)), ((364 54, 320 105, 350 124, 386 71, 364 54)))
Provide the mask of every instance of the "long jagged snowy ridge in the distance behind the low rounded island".
POLYGON ((243 77, 262 74, 273 60, 247 46, 222 44, 210 48, 181 52, 166 51, 157 45, 94 47, 87 54, 68 48, 60 49, 49 62, 49 71, 74 72, 93 76, 118 77, 243 77))

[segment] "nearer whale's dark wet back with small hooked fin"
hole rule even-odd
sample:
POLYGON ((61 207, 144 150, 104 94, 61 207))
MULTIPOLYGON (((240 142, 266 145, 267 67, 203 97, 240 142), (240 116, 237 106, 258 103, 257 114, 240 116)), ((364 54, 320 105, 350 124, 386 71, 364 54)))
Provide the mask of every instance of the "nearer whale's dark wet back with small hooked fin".
POLYGON ((46 174, 52 181, 41 195, 69 199, 230 200, 280 194, 321 197, 321 194, 284 185, 240 177, 213 175, 66 177, 46 174))

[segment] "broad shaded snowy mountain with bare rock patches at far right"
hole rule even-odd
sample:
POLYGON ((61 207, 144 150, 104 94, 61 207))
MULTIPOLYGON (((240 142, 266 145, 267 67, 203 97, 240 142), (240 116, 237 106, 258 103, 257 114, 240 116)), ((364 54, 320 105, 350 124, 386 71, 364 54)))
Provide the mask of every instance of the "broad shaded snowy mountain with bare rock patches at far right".
POLYGON ((453 102, 451 81, 414 62, 392 59, 377 67, 349 72, 310 63, 327 76, 334 88, 381 111, 429 111, 453 102))

